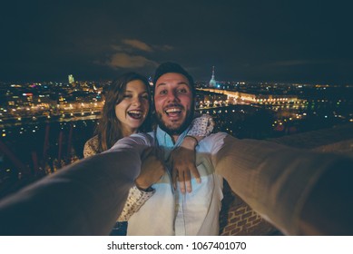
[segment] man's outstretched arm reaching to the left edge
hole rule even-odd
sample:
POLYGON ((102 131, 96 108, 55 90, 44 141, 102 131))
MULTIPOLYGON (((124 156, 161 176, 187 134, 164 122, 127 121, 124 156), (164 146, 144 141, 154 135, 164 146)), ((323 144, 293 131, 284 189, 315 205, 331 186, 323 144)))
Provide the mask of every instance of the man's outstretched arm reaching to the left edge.
POLYGON ((1 200, 0 235, 108 235, 140 173, 141 151, 77 161, 1 200))

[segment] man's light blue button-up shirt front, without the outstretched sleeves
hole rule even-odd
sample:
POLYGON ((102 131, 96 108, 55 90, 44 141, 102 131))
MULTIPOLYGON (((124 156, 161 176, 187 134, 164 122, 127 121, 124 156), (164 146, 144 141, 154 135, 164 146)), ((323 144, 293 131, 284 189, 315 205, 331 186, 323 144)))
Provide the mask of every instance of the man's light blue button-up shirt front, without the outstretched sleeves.
MULTIPOLYGON (((182 132, 174 144, 172 137, 158 128, 146 134, 132 134, 117 142, 120 145, 157 145, 167 160, 172 149, 179 146, 186 136, 182 132)), ((217 152, 221 149, 226 133, 216 133, 205 137, 196 148, 196 165, 201 175, 201 183, 192 177, 192 192, 182 194, 180 188, 173 190, 171 172, 168 169, 161 180, 152 185, 153 196, 129 220, 128 235, 218 235, 219 213, 221 210, 222 178, 214 170, 217 152)), ((141 149, 140 149, 141 150, 141 149)), ((136 163, 136 166, 141 167, 136 163)), ((166 165, 168 168, 168 165, 166 165)))

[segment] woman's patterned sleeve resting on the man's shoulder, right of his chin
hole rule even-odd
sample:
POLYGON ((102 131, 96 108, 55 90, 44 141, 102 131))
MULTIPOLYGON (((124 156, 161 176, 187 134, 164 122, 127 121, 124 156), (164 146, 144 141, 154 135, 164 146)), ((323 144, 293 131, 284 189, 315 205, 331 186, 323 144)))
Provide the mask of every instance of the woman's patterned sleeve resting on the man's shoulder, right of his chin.
POLYGON ((214 121, 210 114, 203 113, 200 117, 195 118, 191 122, 191 129, 188 132, 189 136, 206 137, 211 134, 214 128, 214 121))

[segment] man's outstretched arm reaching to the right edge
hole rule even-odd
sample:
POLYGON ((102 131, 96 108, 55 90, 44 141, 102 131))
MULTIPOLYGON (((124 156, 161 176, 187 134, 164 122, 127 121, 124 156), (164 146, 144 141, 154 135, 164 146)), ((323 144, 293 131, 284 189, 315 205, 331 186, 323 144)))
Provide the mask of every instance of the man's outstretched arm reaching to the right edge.
POLYGON ((353 160, 226 136, 216 171, 250 207, 291 235, 352 235, 353 160))

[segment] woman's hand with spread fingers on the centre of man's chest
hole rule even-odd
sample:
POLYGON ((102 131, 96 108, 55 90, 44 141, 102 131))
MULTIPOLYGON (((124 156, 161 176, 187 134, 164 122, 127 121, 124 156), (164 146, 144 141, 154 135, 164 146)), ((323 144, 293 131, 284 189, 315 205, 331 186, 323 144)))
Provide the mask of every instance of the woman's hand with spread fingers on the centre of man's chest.
POLYGON ((170 162, 172 164, 172 183, 176 188, 176 181, 179 181, 181 193, 192 191, 191 174, 198 183, 201 182, 200 173, 196 168, 195 147, 198 141, 192 137, 185 137, 181 146, 171 153, 170 162))

